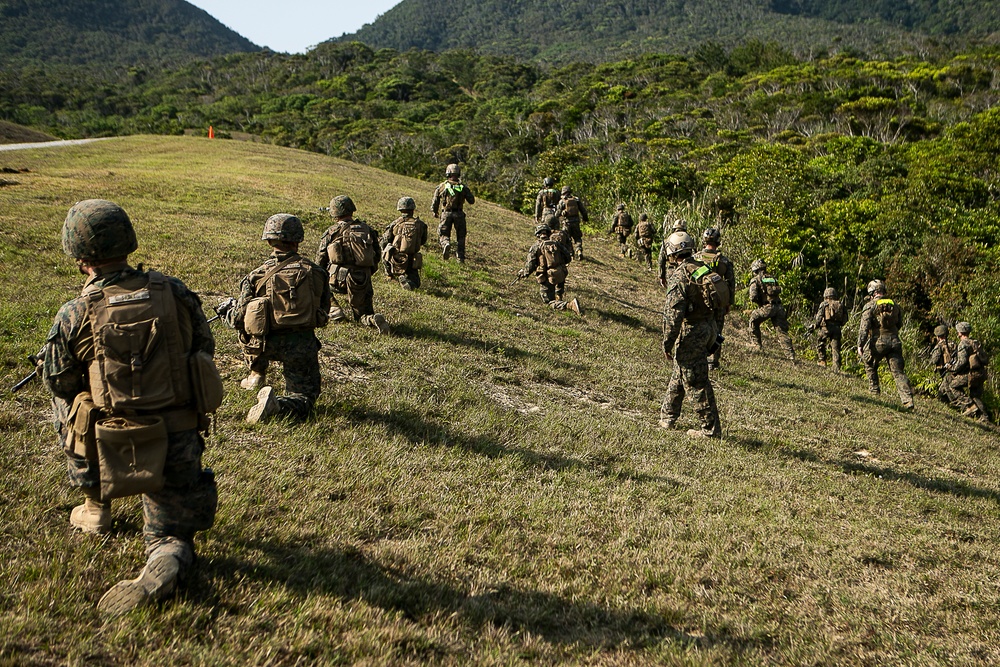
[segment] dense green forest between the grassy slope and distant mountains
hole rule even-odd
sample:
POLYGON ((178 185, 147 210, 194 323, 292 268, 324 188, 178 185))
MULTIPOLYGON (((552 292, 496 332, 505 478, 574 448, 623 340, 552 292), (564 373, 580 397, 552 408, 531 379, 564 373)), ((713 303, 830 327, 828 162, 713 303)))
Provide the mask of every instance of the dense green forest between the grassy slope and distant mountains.
MULTIPOLYGON (((1000 340, 1000 51, 940 61, 798 60, 773 43, 557 69, 470 51, 323 44, 86 80, 0 73, 0 118, 61 137, 211 124, 427 180, 460 162, 487 199, 527 212, 542 177, 760 255, 801 321, 827 285, 856 303, 885 277, 914 318, 1000 340)), ((429 193, 414 193, 426 210, 429 193)))

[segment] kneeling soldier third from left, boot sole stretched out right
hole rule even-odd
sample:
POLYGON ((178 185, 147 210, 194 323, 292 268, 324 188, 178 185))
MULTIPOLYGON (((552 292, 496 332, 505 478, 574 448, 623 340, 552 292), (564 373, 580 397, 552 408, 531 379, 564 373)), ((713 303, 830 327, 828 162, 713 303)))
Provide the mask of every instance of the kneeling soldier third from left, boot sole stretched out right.
MULTIPOLYGON (((378 234, 362 220, 354 219, 357 210, 347 195, 337 195, 330 201, 330 215, 337 222, 320 239, 316 263, 330 274, 330 289, 347 295, 354 321, 387 334, 389 323, 381 313, 375 312, 373 303, 372 274, 379 260, 378 234)), ((334 322, 346 320, 336 298, 332 297, 332 301, 330 319, 334 322)))

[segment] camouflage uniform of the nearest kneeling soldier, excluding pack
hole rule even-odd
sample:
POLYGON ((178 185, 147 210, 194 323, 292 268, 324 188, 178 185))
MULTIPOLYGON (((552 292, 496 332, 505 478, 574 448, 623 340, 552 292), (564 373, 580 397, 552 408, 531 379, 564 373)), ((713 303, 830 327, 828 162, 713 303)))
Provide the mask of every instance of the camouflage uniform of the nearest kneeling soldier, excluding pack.
MULTIPOLYGON (((90 288, 139 284, 148 274, 127 265, 91 277, 84 284, 90 288)), ((187 354, 196 351, 215 353, 215 339, 201 309, 198 296, 176 278, 167 282, 177 304, 183 345, 187 354)), ((56 314, 45 344, 42 380, 52 392, 53 411, 59 441, 66 453, 69 481, 88 497, 100 495, 100 466, 96 460, 72 451, 68 445, 70 408, 81 392, 91 391, 88 368, 95 358, 95 345, 87 313, 87 298, 80 296, 66 302, 56 314)), ((190 406, 180 406, 193 411, 190 406)), ((162 413, 156 413, 162 414, 162 413)), ((197 420, 196 420, 197 421, 197 420)), ((168 420, 167 463, 162 490, 142 496, 143 541, 150 561, 166 554, 175 557, 183 573, 194 562, 194 534, 207 530, 215 521, 218 495, 211 470, 203 470, 201 455, 205 441, 198 426, 168 420)))

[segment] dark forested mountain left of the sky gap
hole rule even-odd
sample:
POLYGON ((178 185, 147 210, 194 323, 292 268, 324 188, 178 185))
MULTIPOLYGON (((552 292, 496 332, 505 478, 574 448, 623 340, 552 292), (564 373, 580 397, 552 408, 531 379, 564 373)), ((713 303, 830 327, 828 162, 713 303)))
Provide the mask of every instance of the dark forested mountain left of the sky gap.
POLYGON ((0 0, 0 67, 131 66, 259 50, 183 0, 0 0))

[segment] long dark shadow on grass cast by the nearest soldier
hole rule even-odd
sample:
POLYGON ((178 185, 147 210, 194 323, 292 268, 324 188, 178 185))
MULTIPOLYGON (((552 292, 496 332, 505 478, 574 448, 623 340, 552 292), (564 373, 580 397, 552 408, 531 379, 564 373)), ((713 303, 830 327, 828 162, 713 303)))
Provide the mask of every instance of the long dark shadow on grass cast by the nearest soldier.
MULTIPOLYGON (((390 613, 384 621, 387 625, 394 625, 392 616, 401 614, 424 630, 431 630, 445 618, 469 629, 479 641, 484 629, 505 628, 511 635, 529 633, 550 644, 591 650, 634 651, 664 641, 693 648, 726 646, 737 652, 773 645, 769 637, 741 637, 725 627, 704 635, 688 634, 675 627, 684 619, 681 611, 614 609, 524 590, 505 582, 474 593, 456 584, 385 565, 358 550, 313 546, 308 543, 311 538, 296 542, 220 535, 218 539, 227 545, 229 553, 254 554, 255 559, 223 556, 201 562, 193 573, 195 580, 186 588, 189 599, 205 606, 219 607, 213 589, 238 590, 245 588, 248 581, 256 581, 262 586, 283 585, 302 599, 332 596, 383 609, 390 613)), ((239 608, 227 612, 260 613, 239 608)), ((417 653, 424 658, 442 658, 454 651, 429 638, 404 638, 386 650, 417 653)))

